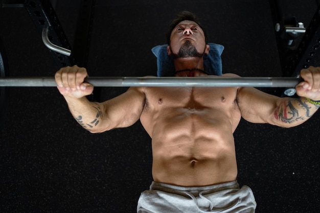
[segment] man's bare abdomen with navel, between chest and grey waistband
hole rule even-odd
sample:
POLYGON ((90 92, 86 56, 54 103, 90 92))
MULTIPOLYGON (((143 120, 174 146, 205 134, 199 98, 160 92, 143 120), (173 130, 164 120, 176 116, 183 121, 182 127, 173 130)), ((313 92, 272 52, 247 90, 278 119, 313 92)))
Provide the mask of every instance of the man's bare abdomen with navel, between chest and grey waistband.
POLYGON ((168 111, 153 126, 154 181, 203 186, 235 180, 233 128, 225 115, 213 109, 168 111))

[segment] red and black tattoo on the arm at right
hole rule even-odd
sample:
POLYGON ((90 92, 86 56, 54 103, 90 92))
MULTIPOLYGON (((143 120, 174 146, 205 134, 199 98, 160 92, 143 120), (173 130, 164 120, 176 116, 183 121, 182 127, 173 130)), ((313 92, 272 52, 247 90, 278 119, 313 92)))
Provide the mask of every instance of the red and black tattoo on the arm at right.
MULTIPOLYGON (((318 108, 317 106, 315 107, 316 109, 318 108)), ((301 99, 287 99, 281 102, 278 108, 275 110, 275 118, 278 121, 288 124, 302 121, 311 117, 311 108, 312 106, 309 106, 308 103, 303 102, 301 99), (296 109, 297 106, 300 109, 296 109), (302 114, 303 112, 305 112, 305 114, 302 114)))

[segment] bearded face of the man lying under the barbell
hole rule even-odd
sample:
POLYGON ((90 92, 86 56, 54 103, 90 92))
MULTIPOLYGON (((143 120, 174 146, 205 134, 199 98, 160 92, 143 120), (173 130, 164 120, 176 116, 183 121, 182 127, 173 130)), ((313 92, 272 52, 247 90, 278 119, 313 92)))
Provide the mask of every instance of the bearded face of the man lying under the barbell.
POLYGON ((209 53, 202 29, 196 22, 184 20, 172 30, 168 54, 174 58, 202 57, 209 53))

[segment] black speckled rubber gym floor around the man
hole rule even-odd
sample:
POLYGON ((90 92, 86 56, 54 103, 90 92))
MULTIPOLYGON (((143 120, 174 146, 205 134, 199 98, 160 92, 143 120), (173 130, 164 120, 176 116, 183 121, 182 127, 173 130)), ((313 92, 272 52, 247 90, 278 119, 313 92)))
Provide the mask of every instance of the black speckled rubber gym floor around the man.
MULTIPOLYGON (((306 25, 316 1, 288 1, 306 25)), ((57 15, 73 44, 79 1, 59 1, 57 15)), ((201 18, 209 41, 223 44, 223 72, 281 76, 268 1, 97 1, 90 76, 156 74, 151 48, 165 44, 181 10, 201 18)), ((11 76, 54 76, 58 69, 24 8, 0 8, 11 76)), ((126 88, 101 89, 110 99, 126 88)), ((135 212, 149 187, 151 139, 140 122, 101 134, 83 130, 56 88, 11 88, 0 130, 0 212, 135 212)), ((241 120, 234 137, 240 185, 256 212, 318 212, 319 121, 290 129, 241 120)))

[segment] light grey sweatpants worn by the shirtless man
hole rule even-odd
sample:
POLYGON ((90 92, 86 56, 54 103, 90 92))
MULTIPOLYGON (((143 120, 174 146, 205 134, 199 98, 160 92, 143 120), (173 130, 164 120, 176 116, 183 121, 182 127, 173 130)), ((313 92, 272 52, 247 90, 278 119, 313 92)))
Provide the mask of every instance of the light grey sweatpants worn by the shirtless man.
POLYGON ((252 190, 237 181, 200 187, 176 186, 152 182, 141 193, 138 213, 158 212, 241 212, 253 213, 256 201, 252 190))

